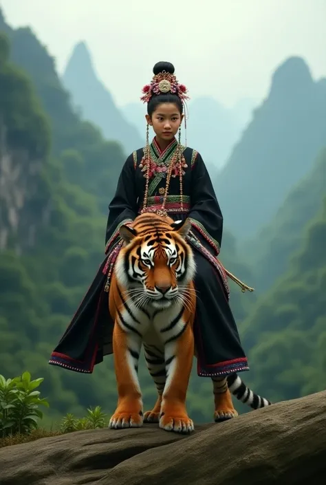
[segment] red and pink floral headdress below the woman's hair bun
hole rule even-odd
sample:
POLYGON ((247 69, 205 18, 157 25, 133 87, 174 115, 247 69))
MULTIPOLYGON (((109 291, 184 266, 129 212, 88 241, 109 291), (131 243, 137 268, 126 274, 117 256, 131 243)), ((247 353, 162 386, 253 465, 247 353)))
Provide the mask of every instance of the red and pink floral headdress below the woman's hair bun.
POLYGON ((143 103, 149 103, 149 100, 153 95, 161 93, 177 94, 182 101, 189 99, 186 86, 184 84, 179 84, 175 75, 166 71, 159 72, 159 74, 153 76, 151 84, 146 84, 142 88, 142 92, 144 96, 140 99, 143 103))

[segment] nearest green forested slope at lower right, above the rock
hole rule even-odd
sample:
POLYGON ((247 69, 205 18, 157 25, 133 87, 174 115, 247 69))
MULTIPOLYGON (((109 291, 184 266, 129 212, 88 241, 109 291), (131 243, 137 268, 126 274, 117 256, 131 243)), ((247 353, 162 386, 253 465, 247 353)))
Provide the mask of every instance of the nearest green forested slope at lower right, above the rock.
POLYGON ((250 380, 274 401, 325 389, 326 192, 289 269, 243 322, 250 380))

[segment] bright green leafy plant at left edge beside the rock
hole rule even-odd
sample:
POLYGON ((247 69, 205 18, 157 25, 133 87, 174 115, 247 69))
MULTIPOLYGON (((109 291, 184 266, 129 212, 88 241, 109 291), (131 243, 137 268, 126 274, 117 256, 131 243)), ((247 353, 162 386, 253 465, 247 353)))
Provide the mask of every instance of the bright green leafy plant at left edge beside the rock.
POLYGON ((36 387, 43 378, 31 380, 29 372, 24 372, 14 379, 4 378, 0 374, 0 435, 28 434, 37 429, 43 413, 40 405, 49 407, 49 403, 40 398, 36 387))

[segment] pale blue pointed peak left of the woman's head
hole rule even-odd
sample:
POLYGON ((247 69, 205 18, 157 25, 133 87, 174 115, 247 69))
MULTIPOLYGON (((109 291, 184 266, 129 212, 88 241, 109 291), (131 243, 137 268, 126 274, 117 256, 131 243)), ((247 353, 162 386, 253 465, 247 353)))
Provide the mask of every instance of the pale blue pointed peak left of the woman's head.
POLYGON ((145 121, 143 136, 131 125, 114 104, 111 93, 96 74, 94 62, 87 45, 78 43, 63 74, 63 84, 72 94, 74 105, 83 117, 100 127, 107 140, 117 140, 129 154, 145 144, 145 121))

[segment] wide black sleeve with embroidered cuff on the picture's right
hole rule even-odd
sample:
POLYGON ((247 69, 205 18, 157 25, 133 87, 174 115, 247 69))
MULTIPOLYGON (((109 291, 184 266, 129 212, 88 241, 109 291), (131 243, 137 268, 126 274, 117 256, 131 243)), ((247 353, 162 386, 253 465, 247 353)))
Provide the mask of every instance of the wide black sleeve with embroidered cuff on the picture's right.
POLYGON ((193 233, 219 254, 223 216, 202 156, 197 153, 191 170, 191 211, 193 233))

